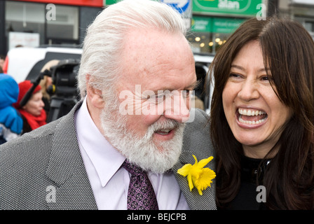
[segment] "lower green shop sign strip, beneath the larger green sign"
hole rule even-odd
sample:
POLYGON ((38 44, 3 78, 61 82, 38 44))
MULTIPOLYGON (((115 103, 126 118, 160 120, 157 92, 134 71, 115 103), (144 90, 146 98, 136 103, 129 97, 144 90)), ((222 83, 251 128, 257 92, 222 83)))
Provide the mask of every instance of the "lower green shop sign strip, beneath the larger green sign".
POLYGON ((243 19, 233 18, 207 18, 201 16, 193 16, 191 22, 191 31, 231 34, 244 21, 245 20, 243 19))

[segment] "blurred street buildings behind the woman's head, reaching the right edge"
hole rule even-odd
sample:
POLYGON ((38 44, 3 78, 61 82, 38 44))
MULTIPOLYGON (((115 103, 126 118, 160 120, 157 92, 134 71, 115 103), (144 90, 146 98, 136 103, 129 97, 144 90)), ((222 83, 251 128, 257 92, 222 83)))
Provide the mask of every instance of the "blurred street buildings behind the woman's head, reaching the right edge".
POLYGON ((191 0, 193 1, 189 41, 194 52, 215 53, 219 45, 248 18, 278 15, 300 22, 314 39, 314 0, 191 0))

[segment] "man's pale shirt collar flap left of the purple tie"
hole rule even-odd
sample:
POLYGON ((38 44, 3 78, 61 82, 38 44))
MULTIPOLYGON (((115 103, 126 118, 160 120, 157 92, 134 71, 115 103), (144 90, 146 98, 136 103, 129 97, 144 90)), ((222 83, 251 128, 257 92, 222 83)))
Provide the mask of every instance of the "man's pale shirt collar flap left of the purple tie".
POLYGON ((109 144, 96 127, 88 112, 86 98, 76 114, 76 131, 78 141, 93 163, 102 187, 106 186, 123 164, 125 157, 109 144))

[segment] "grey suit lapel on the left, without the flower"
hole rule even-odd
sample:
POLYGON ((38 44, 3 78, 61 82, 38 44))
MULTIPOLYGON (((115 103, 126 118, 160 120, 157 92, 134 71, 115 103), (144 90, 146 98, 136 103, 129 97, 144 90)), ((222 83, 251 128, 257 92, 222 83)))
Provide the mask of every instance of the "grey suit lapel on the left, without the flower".
POLYGON ((97 209, 76 137, 74 114, 80 106, 81 102, 60 118, 55 128, 46 171, 55 184, 55 202, 48 203, 50 209, 97 209))

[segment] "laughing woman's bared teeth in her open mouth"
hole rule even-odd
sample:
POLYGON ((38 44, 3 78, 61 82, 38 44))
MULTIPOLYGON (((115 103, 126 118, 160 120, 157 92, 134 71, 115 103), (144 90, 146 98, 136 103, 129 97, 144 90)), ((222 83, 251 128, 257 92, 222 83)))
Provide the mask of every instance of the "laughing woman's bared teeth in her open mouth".
POLYGON ((240 113, 239 122, 247 125, 258 125, 267 119, 267 113, 264 111, 238 109, 238 112, 240 113))

